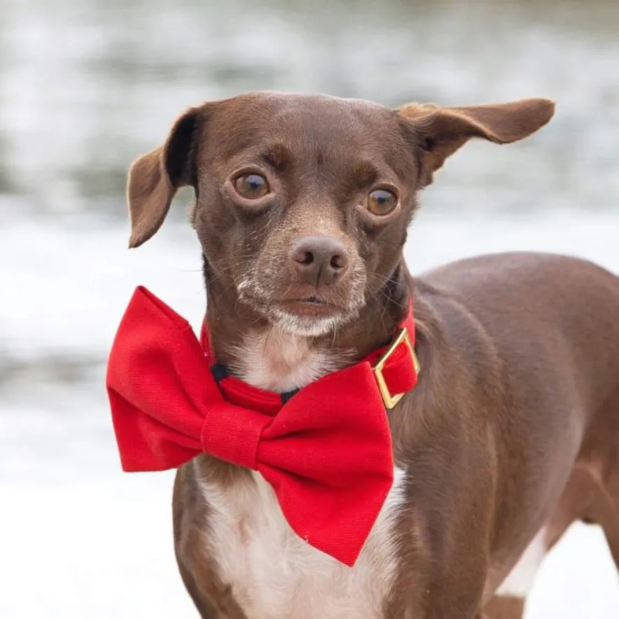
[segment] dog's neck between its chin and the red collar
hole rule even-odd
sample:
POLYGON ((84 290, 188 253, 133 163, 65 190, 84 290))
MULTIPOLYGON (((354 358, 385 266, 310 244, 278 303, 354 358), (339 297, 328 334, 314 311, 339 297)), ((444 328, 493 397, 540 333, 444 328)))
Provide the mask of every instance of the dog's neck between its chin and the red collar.
MULTIPOLYGON (((207 269, 205 265, 205 273, 207 269)), ((408 311, 411 290, 402 260, 388 286, 367 300, 354 321, 311 337, 272 325, 239 303, 228 282, 212 277, 206 282, 207 323, 217 363, 248 384, 278 393, 352 365, 391 340, 408 311)))

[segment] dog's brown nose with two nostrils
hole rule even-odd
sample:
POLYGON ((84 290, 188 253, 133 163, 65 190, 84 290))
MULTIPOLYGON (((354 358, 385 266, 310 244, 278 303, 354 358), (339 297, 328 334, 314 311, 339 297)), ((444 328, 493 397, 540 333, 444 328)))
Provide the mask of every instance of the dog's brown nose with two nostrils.
POLYGON ((346 245, 332 236, 300 238, 293 242, 289 256, 299 279, 316 288, 335 283, 348 267, 346 245))

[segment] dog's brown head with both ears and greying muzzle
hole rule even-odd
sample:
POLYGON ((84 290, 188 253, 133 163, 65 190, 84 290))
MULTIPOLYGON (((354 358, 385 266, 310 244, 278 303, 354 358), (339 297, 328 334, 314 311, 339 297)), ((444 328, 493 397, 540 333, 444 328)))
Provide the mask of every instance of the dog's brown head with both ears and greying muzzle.
POLYGON ((129 245, 148 240, 190 185, 209 291, 229 312, 326 335, 370 300, 398 296, 417 193, 449 155, 470 138, 525 138, 553 110, 546 99, 392 110, 275 93, 205 103, 131 166, 129 245))

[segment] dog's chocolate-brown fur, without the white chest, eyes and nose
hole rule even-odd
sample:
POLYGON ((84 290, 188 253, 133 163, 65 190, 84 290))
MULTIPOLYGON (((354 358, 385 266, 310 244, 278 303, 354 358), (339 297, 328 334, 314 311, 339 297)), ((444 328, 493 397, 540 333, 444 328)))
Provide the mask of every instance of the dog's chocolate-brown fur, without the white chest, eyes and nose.
MULTIPOLYGON (((525 138, 552 115, 544 99, 388 110, 248 94, 191 108, 131 168, 131 247, 161 226, 179 187, 196 191, 221 363, 235 366, 242 335, 268 328, 272 305, 312 293, 286 256, 316 228, 344 242, 350 264, 319 291, 341 321, 313 347, 345 351, 346 363, 364 356, 412 296, 422 373, 389 415, 395 462, 412 474, 386 619, 479 619, 486 604, 490 619, 518 619, 522 600, 493 592, 546 524, 549 546, 574 519, 601 524, 619 565, 619 279, 543 254, 482 256, 412 278, 402 258, 417 192, 447 156, 469 138, 525 138), (231 179, 247 169, 265 175, 270 196, 235 194, 231 179), (381 219, 363 208, 377 184, 399 194, 381 219), (240 293, 248 277, 250 293, 240 293)), ((177 475, 177 560, 205 618, 245 615, 205 553, 210 508, 196 475, 225 489, 246 474, 202 456, 177 475)))

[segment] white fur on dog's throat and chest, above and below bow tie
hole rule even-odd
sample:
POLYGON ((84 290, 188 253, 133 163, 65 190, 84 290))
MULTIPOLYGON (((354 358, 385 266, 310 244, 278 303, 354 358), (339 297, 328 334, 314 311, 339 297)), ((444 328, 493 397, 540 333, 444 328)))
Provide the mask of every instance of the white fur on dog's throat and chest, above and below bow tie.
MULTIPOLYGON (((239 357, 247 365, 237 367, 237 372, 256 386, 285 391, 337 365, 333 358, 318 358, 303 342, 282 347, 281 338, 254 339, 256 345, 239 357), (275 349, 277 356, 272 354, 275 349)), ((212 509, 205 543, 221 580, 231 586, 247 618, 381 618, 397 567, 394 527, 404 478, 405 472, 396 469, 391 493, 354 567, 299 539, 260 474, 243 477, 225 490, 203 480, 203 494, 212 509)))

